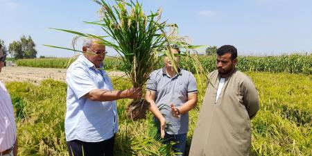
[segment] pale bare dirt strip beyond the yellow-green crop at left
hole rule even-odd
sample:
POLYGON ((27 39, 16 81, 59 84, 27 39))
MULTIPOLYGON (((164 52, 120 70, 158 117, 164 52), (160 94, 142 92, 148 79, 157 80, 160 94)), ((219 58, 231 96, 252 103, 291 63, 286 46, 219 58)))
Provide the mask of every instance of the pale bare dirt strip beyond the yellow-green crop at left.
MULTIPOLYGON (((33 67, 3 67, 0 80, 3 83, 10 81, 28 81, 39 84, 42 80, 52 78, 65 82, 67 69, 33 68, 33 67)), ((109 76, 124 76, 122 71, 107 71, 109 76)))

